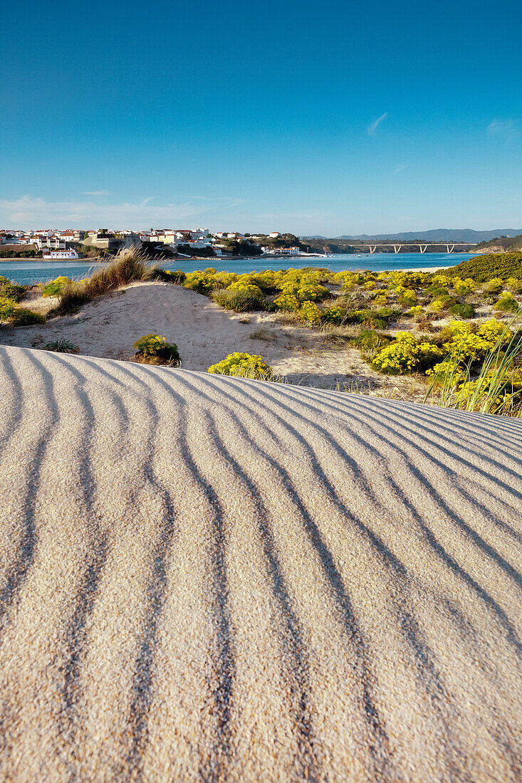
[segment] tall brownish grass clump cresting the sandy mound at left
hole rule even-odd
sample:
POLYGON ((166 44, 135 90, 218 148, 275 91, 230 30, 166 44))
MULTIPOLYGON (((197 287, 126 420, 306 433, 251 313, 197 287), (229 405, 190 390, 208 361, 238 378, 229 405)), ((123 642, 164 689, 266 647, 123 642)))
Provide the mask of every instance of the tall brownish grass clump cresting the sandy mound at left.
POLYGON ((151 280, 157 272, 155 262, 150 262, 143 253, 129 247, 114 256, 110 263, 94 269, 89 278, 65 286, 53 315, 76 312, 90 299, 128 285, 133 280, 151 280))

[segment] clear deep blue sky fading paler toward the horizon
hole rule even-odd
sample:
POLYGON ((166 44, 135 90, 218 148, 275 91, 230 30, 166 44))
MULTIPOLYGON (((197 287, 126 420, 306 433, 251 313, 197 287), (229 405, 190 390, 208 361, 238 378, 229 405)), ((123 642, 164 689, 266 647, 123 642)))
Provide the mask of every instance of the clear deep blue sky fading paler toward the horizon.
POLYGON ((0 227, 522 226, 518 2, 9 3, 0 227))

